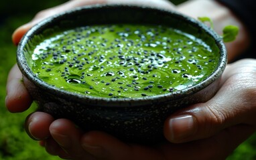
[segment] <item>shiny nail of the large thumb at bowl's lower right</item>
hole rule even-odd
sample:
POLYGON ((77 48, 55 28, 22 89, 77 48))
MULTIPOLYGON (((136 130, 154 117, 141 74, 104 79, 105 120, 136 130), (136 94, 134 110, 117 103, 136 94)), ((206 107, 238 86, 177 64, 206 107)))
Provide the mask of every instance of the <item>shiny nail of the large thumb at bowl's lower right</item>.
POLYGON ((196 122, 192 115, 174 117, 170 119, 170 138, 174 142, 180 142, 193 135, 196 127, 196 122))

